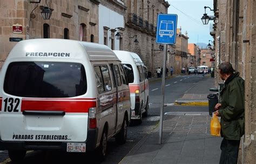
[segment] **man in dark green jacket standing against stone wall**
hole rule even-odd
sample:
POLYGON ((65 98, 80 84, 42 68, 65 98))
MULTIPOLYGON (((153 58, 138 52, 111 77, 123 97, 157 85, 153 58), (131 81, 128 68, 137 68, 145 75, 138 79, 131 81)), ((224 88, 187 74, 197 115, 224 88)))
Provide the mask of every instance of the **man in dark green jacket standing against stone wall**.
POLYGON ((245 82, 229 62, 220 64, 219 74, 225 80, 220 90, 220 103, 215 106, 215 114, 221 117, 223 137, 220 163, 236 164, 240 138, 245 133, 245 82))

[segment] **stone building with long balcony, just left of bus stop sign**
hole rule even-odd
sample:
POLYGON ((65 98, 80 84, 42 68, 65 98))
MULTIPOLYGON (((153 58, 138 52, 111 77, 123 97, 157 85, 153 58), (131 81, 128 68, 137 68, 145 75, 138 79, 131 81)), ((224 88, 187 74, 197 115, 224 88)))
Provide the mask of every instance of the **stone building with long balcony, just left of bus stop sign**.
POLYGON ((124 50, 137 53, 156 76, 156 69, 163 66, 163 51, 156 44, 157 16, 167 13, 169 3, 164 0, 126 0, 125 5, 124 50))

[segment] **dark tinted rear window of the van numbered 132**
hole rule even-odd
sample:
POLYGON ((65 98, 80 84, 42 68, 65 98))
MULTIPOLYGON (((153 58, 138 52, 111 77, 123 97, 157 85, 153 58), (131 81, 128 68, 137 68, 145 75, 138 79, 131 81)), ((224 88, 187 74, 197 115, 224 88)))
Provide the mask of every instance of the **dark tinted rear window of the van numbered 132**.
POLYGON ((68 98, 86 90, 85 69, 78 63, 14 62, 4 79, 4 91, 20 97, 68 98))

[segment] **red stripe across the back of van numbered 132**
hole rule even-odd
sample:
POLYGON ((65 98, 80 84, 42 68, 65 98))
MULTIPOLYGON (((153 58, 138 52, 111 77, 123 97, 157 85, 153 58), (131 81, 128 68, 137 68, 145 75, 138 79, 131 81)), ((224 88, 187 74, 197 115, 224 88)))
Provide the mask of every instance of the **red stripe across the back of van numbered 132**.
POLYGON ((96 101, 88 101, 88 99, 87 101, 84 99, 22 100, 21 111, 64 111, 67 113, 88 113, 90 107, 96 107, 96 101))

